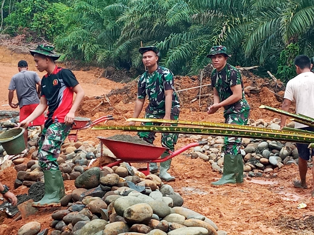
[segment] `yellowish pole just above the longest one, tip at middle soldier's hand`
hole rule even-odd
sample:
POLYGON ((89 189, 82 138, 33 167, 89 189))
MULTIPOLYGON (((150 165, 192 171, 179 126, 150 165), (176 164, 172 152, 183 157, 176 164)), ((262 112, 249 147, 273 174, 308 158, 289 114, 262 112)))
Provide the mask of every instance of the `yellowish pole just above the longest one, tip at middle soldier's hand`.
MULTIPOLYGON (((193 125, 193 126, 205 126, 205 127, 217 127, 217 128, 232 128, 232 129, 241 129, 241 130, 252 130, 252 131, 262 131, 262 132, 273 132, 273 133, 282 133, 280 130, 262 128, 262 127, 251 127, 245 125, 236 125, 236 124, 226 124, 226 123, 213 123, 213 122, 198 122, 198 121, 181 121, 181 120, 164 120, 164 119, 154 119, 154 118, 128 118, 128 122, 152 122, 152 123, 171 123, 171 124, 183 124, 183 125, 193 125)), ((299 129, 290 128, 287 130, 287 133, 295 134, 301 133, 304 134, 304 131, 299 129)), ((313 135, 314 133, 307 132, 306 134, 313 135)))

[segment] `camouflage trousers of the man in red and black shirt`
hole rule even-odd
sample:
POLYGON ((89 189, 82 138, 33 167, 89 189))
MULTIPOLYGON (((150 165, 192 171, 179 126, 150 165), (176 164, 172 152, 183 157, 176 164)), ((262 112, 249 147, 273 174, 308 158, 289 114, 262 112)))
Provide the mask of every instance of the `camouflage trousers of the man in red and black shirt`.
POLYGON ((39 165, 42 170, 59 170, 57 158, 61 145, 71 129, 72 125, 53 123, 42 130, 38 148, 39 165))

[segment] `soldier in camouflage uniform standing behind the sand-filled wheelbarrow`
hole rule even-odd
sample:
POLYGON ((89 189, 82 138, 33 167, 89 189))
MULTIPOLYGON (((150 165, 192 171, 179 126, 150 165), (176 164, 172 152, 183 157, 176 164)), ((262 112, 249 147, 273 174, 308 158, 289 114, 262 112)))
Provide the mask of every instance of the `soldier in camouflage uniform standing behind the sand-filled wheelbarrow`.
MULTIPOLYGON (((149 105, 145 110, 145 118, 178 120, 180 104, 177 94, 174 91, 172 72, 158 65, 160 57, 156 47, 142 47, 139 49, 139 52, 142 54, 143 64, 148 70, 139 78, 138 97, 132 117, 138 118, 143 109, 145 97, 147 96, 149 105)), ((135 122, 130 122, 129 125, 135 125, 135 122)), ((142 123, 142 125, 160 125, 160 123, 142 123)), ((139 132, 138 136, 150 144, 153 144, 155 139, 154 132, 139 132)), ((162 133, 161 145, 174 151, 177 139, 177 133, 162 133)), ((161 158, 165 158, 168 155, 168 152, 165 152, 161 158)), ((175 177, 167 172, 170 165, 171 159, 160 163, 160 179, 165 181, 175 180, 175 177)), ((149 168, 152 173, 158 170, 156 163, 151 163, 149 168)))

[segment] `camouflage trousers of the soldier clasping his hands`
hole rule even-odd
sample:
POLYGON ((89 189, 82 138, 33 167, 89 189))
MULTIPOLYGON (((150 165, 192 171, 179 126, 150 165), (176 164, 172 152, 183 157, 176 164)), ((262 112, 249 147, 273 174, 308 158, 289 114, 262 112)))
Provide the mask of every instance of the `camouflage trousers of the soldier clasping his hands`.
MULTIPOLYGON (((241 113, 225 113, 225 123, 227 124, 237 124, 246 125, 249 119, 250 110, 245 110, 241 113)), ((237 137, 224 137, 225 145, 223 147, 225 154, 237 155, 240 153, 240 147, 242 143, 242 138, 237 137)))

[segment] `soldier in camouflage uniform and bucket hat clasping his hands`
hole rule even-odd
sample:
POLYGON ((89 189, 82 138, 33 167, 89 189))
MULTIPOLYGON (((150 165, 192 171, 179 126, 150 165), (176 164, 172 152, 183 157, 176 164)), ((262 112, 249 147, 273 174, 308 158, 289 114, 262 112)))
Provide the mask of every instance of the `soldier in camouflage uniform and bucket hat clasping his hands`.
MULTIPOLYGON (((211 74, 214 90, 214 104, 208 108, 208 114, 215 113, 224 107, 225 123, 246 125, 250 106, 244 96, 244 87, 240 72, 227 63, 227 49, 224 46, 214 46, 207 55, 214 69, 211 74)), ((240 153, 242 138, 225 137, 224 172, 214 185, 243 182, 243 160, 240 153)))

